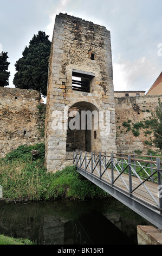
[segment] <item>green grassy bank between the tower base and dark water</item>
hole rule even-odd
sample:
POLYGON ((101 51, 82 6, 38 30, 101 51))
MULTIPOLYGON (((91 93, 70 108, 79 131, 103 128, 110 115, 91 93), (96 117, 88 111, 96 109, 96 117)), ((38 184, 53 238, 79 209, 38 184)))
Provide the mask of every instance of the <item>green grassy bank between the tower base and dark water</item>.
POLYGON ((47 173, 44 167, 44 144, 22 145, 0 159, 0 185, 3 200, 28 201, 59 198, 103 198, 108 194, 69 166, 56 173, 47 173), (39 150, 33 156, 31 150, 39 150))

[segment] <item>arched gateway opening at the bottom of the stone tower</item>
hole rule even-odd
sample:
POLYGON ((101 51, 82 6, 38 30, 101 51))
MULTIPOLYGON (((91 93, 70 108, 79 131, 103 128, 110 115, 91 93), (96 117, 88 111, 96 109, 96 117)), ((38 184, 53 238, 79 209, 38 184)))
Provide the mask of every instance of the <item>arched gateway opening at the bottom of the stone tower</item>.
POLYGON ((66 150, 90 152, 100 148, 99 109, 92 103, 76 102, 68 111, 66 150))

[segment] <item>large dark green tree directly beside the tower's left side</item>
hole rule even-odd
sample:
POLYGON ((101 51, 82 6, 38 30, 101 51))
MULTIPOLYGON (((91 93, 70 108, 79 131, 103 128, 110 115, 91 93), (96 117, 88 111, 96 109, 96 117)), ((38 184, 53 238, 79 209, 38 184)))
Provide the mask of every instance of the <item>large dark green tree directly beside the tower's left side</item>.
POLYGON ((13 83, 16 88, 38 90, 47 95, 48 59, 51 42, 45 32, 39 31, 25 46, 23 57, 18 59, 13 83))

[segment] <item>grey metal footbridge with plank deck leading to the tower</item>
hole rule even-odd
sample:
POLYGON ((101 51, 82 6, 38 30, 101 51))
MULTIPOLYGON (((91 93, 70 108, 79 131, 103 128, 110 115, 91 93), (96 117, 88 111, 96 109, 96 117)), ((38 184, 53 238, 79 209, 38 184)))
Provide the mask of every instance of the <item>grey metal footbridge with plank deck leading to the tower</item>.
POLYGON ((151 155, 73 152, 77 172, 162 229, 162 162, 151 155))

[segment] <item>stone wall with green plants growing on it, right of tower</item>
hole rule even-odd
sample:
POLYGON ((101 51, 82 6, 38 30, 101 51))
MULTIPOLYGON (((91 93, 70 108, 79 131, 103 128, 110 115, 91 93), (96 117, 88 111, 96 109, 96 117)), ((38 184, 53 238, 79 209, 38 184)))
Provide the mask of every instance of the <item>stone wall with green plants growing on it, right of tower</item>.
MULTIPOLYGON (((115 97, 116 147, 118 153, 133 153, 135 150, 147 153, 148 149, 158 150, 154 146, 153 132, 149 125, 149 117, 158 105, 158 97, 155 95, 115 97), (138 129, 135 129, 134 125, 138 129), (138 136, 134 136, 134 134, 138 136)), ((160 96, 160 99, 162 99, 162 96, 160 96)))

